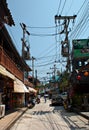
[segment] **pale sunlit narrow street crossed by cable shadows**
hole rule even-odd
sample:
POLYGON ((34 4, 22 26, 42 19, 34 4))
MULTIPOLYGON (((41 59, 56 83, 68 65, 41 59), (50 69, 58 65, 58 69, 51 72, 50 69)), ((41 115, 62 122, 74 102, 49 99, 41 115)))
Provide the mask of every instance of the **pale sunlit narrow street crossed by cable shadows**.
POLYGON ((50 106, 50 100, 28 109, 10 130, 89 130, 89 122, 63 106, 50 106))

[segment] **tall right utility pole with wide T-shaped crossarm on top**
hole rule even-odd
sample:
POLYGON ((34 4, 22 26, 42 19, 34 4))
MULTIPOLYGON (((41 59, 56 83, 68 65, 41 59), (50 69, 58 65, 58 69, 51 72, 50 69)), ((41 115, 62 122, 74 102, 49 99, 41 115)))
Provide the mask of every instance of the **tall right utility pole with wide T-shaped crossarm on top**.
POLYGON ((70 45, 69 45, 69 40, 68 40, 68 34, 69 34, 69 31, 68 31, 68 26, 69 26, 69 22, 70 20, 73 20, 74 22, 74 19, 76 18, 76 15, 74 16, 55 16, 55 22, 56 20, 64 20, 64 30, 62 30, 62 32, 60 32, 60 34, 62 33, 65 33, 65 40, 63 43, 66 43, 67 46, 68 46, 68 61, 67 61, 67 67, 68 67, 68 70, 70 72, 70 45))

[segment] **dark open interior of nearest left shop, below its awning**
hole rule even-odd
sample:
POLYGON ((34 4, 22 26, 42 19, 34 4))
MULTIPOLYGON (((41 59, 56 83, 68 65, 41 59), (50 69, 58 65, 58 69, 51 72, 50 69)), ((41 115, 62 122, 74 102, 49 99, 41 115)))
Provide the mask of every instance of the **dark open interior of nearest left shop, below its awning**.
POLYGON ((12 104, 13 80, 0 74, 0 105, 5 105, 5 110, 13 108, 12 104))

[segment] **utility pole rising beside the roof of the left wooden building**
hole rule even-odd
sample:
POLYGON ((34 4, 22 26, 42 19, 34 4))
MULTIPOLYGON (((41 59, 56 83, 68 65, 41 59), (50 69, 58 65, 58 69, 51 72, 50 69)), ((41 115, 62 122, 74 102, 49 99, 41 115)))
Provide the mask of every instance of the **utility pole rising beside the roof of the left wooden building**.
POLYGON ((22 40, 22 58, 25 59, 24 53, 25 53, 25 47, 27 48, 27 51, 29 51, 29 48, 26 45, 26 40, 25 40, 25 34, 30 35, 30 33, 26 29, 26 25, 24 23, 20 23, 20 26, 23 30, 23 38, 22 40))

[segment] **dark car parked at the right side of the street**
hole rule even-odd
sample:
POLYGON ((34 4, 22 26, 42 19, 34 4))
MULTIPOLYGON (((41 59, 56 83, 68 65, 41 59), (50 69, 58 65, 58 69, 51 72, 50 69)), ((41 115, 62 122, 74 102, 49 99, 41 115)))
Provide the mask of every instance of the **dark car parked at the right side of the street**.
POLYGON ((61 98, 61 96, 54 96, 51 99, 51 105, 52 106, 62 106, 63 105, 63 99, 61 98))

